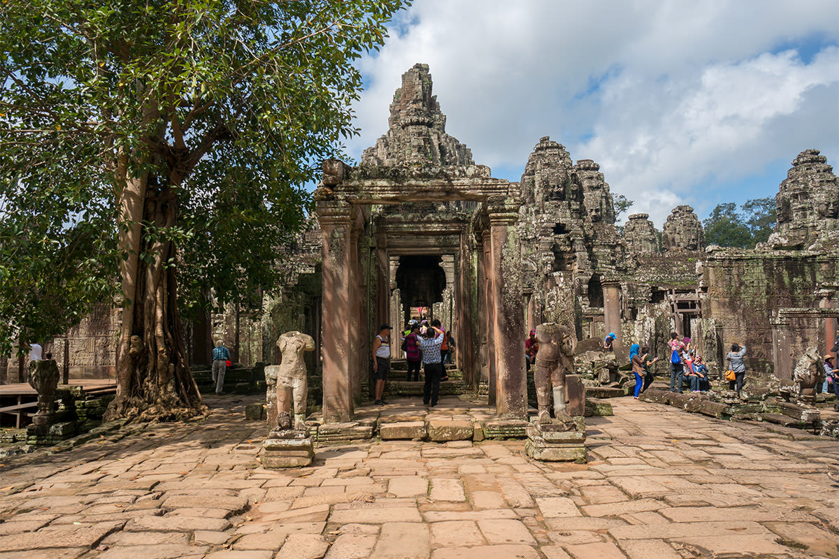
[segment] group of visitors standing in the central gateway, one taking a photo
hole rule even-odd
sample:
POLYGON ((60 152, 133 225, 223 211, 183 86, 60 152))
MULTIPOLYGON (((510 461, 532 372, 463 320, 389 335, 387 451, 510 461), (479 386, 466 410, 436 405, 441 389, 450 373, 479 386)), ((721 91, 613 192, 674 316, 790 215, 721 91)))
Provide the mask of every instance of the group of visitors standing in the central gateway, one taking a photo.
MULTIPOLYGON (((382 324, 378 335, 373 339, 373 379, 376 380, 375 397, 378 406, 388 403, 384 400, 384 385, 390 372, 390 331, 389 324, 382 324)), ((424 365, 425 384, 423 385, 423 404, 436 406, 440 396, 440 382, 448 380, 446 361, 451 363, 451 350, 455 340, 451 331, 442 328, 439 320, 428 323, 423 320, 411 320, 402 336, 402 350, 408 361, 406 380, 420 380, 420 364, 424 365)))

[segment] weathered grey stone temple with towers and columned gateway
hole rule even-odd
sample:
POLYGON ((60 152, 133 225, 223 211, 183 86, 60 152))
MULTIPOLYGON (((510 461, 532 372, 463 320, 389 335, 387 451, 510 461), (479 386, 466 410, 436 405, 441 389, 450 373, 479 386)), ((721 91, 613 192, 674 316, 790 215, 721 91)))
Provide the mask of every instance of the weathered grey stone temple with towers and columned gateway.
MULTIPOLYGON (((818 150, 793 161, 776 196, 776 230, 754 250, 706 246, 688 205, 661 231, 646 214, 616 227, 603 171, 542 137, 519 182, 493 178, 446 133, 429 68, 414 65, 393 95, 388 130, 361 163, 324 162, 309 227, 283 249, 283 296, 263 301, 257 321, 231 311, 192 323, 191 362, 206 363, 208 341, 221 338, 244 365, 276 363, 278 335, 300 330, 321 349, 309 361, 310 404, 326 422, 347 422, 369 398, 378 324, 396 332, 411 308, 429 308, 455 335, 464 390, 487 391, 499 417, 526 420, 523 340, 539 323, 567 325, 582 348, 614 332, 618 346, 649 343, 662 357, 674 331, 694 340, 712 375, 741 342, 748 370, 782 382, 806 349, 830 347, 839 180, 818 150)), ((107 378, 117 326, 99 309, 51 349, 68 356, 71 377, 107 378)), ((17 363, 3 373, 18 380, 17 363)))

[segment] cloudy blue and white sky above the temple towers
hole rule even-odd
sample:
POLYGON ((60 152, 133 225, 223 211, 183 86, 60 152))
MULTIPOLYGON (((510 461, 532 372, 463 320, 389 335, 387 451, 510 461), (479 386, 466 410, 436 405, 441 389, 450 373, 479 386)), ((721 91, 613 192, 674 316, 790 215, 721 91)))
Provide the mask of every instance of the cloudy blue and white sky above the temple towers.
POLYGON ((353 157, 416 62, 493 176, 519 180, 550 136, 657 225, 676 204, 704 218, 774 196, 806 148, 839 168, 836 0, 414 0, 360 61, 353 157))

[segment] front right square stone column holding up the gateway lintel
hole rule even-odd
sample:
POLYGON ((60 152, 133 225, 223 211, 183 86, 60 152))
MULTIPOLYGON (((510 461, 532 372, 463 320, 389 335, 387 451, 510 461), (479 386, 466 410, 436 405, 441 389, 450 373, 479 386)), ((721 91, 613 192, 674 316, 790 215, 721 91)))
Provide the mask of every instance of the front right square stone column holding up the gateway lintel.
POLYGON ((521 244, 516 221, 519 204, 494 199, 489 204, 489 243, 492 253, 492 328, 495 346, 498 417, 527 419, 527 376, 524 373, 524 308, 521 244))

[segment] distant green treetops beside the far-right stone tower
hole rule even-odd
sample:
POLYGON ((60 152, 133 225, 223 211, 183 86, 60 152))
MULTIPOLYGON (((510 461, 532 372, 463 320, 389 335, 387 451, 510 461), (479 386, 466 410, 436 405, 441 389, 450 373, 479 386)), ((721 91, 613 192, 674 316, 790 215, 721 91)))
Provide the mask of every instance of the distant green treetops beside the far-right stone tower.
POLYGON ((776 221, 775 199, 769 197, 748 200, 739 210, 733 202, 717 204, 702 225, 708 245, 753 248, 769 239, 776 221))

